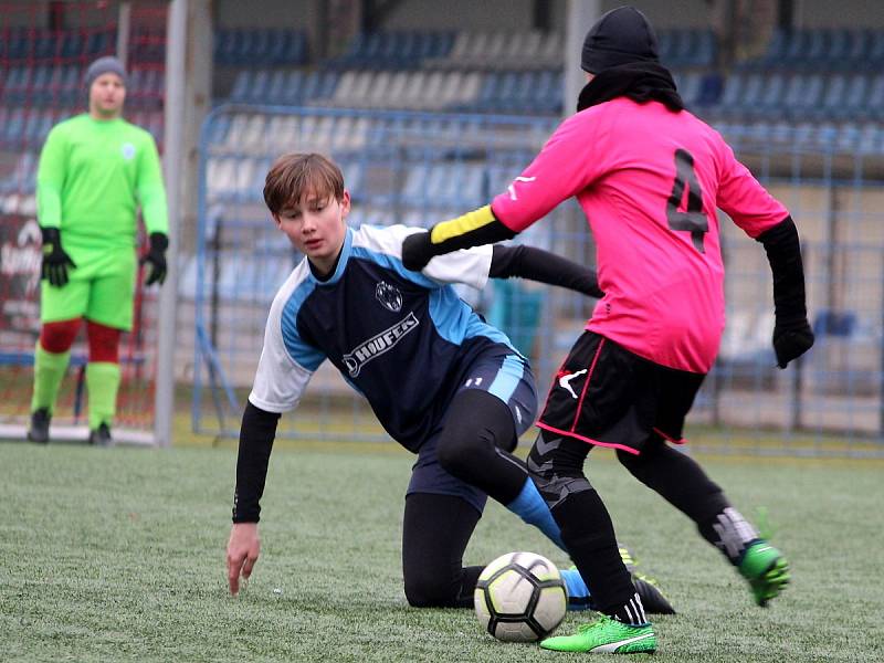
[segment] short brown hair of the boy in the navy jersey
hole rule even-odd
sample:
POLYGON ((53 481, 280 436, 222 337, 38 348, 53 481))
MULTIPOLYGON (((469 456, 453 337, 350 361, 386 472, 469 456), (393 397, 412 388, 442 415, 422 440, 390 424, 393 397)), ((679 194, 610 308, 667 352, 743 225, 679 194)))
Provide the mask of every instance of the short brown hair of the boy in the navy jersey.
POLYGON ((307 193, 344 199, 344 175, 323 155, 292 152, 271 166, 264 181, 264 202, 273 214, 296 207, 307 193))

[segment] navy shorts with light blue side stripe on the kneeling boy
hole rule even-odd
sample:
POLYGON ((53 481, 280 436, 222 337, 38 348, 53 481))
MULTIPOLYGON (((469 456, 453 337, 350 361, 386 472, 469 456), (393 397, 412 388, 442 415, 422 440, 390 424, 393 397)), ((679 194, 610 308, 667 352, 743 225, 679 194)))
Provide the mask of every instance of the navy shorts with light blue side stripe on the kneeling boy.
MULTIPOLYGON (((466 389, 482 389, 496 396, 513 413, 516 435, 522 435, 532 427, 537 412, 534 375, 523 357, 514 351, 504 352, 502 349, 495 348, 477 357, 465 371, 461 387, 455 393, 466 389)), ((481 412, 476 412, 476 417, 481 417, 481 412)), ((418 450, 418 460, 412 467, 411 482, 406 494, 454 495, 462 497, 482 513, 488 496, 483 491, 452 476, 439 464, 436 444, 441 434, 441 429, 435 431, 418 450)))

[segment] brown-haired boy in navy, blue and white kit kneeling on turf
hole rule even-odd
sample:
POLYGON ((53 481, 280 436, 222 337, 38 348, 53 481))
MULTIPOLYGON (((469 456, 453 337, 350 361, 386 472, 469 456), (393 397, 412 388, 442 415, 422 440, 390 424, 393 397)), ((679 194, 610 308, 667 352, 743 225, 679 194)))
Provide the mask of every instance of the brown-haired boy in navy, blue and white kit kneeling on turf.
MULTIPOLYGON (((463 568, 462 558, 487 495, 561 547, 525 463, 511 453, 536 412, 528 362, 449 284, 483 287, 488 276, 523 276, 598 297, 594 273, 528 246, 461 251, 409 272, 400 248, 419 229, 348 228, 343 175, 320 155, 281 157, 264 200, 305 259, 273 301, 242 419, 231 592, 259 557, 259 501, 280 414, 296 407, 326 359, 366 397, 390 436, 418 455, 402 537, 410 604, 472 604, 482 567, 463 568)), ((564 576, 570 603, 586 607, 580 575, 564 576)), ((659 611, 672 611, 652 585, 634 579, 659 611)))

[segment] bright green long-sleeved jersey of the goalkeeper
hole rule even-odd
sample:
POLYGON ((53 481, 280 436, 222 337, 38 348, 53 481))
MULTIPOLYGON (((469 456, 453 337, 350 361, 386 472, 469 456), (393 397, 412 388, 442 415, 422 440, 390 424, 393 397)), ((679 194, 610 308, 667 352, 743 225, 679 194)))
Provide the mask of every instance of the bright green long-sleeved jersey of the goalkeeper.
POLYGON ((40 225, 61 229, 65 248, 134 246, 138 204, 148 233, 169 233, 154 137, 122 118, 83 114, 55 125, 40 154, 36 202, 40 225))

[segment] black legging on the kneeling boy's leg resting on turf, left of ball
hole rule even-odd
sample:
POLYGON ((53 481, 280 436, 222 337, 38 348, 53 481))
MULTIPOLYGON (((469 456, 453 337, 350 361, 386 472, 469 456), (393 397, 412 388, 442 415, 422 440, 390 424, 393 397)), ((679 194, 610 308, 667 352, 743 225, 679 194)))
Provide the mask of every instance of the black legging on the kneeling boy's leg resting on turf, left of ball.
POLYGON ((412 493, 402 524, 406 598, 415 608, 466 608, 483 567, 463 566, 480 513, 453 495, 412 493))

